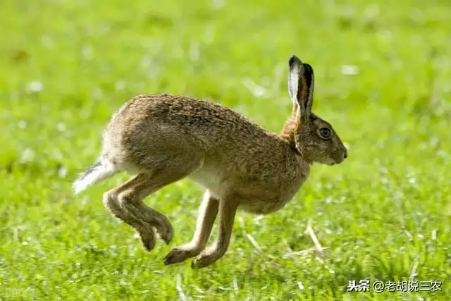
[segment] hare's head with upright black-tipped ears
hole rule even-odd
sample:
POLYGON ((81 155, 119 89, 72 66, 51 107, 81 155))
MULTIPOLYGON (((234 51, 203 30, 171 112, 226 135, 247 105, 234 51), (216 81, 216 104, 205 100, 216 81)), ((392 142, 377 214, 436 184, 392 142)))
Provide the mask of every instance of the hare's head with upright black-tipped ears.
POLYGON ((292 139, 297 151, 309 162, 340 164, 347 149, 332 125, 311 112, 314 92, 313 68, 291 56, 288 91, 293 102, 292 139))

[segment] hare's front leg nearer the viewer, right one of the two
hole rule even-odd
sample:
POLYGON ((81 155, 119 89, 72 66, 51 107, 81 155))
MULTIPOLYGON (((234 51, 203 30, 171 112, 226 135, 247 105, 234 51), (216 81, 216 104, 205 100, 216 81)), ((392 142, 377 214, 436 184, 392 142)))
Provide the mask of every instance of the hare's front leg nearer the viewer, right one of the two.
POLYGON ((194 258, 191 267, 203 268, 216 262, 226 254, 233 230, 233 221, 237 211, 238 202, 234 197, 222 197, 219 201, 218 238, 210 247, 194 258))

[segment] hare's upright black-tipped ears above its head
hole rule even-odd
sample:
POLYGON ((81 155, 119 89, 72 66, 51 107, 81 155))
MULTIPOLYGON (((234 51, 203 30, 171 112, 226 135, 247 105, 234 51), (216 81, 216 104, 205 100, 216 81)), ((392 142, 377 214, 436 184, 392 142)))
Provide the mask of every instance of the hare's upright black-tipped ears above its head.
POLYGON ((290 77, 288 78, 288 92, 299 111, 309 114, 313 103, 314 73, 308 63, 302 63, 297 56, 291 56, 288 61, 290 77))

